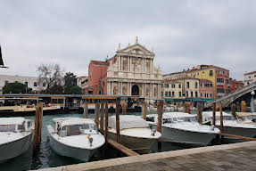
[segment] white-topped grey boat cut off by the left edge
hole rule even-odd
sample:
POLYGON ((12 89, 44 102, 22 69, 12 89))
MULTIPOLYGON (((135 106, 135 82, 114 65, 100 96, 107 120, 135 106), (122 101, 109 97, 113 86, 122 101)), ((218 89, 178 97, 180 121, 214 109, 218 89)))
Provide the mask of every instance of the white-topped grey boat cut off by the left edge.
POLYGON ((20 156, 33 144, 34 126, 25 118, 0 118, 0 162, 20 156))

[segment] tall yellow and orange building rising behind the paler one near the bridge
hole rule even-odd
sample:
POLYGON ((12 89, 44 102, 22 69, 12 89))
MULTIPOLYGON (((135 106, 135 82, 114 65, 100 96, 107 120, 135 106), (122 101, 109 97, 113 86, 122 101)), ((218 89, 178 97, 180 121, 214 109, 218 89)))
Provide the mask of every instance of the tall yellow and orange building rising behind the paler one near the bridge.
POLYGON ((181 72, 163 75, 163 79, 178 77, 194 77, 207 79, 212 82, 213 95, 216 97, 230 93, 229 70, 214 65, 199 65, 197 68, 183 70, 181 72))

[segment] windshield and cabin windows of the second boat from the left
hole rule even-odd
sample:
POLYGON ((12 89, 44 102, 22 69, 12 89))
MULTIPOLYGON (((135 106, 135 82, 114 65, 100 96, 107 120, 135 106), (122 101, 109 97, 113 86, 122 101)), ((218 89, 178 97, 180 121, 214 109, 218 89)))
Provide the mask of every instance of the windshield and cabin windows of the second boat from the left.
POLYGON ((98 134, 98 131, 95 124, 62 126, 62 136, 72 136, 79 134, 98 134))

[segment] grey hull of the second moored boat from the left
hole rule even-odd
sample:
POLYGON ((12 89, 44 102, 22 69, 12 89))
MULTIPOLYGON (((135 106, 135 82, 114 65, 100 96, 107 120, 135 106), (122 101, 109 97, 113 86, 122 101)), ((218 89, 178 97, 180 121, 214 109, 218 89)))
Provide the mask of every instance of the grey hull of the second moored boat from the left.
POLYGON ((50 146, 54 152, 61 156, 70 157, 74 159, 81 159, 83 161, 88 161, 92 156, 94 156, 95 152, 99 149, 81 149, 76 147, 71 147, 69 145, 63 144, 55 140, 52 134, 49 133, 50 146))

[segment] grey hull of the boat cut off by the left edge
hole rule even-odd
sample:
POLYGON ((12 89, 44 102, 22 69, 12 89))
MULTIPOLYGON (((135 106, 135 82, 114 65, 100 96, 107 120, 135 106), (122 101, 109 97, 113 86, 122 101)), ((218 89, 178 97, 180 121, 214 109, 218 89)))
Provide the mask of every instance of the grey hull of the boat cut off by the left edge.
POLYGON ((33 134, 34 131, 19 140, 0 145, 0 163, 18 157, 28 151, 29 147, 33 144, 33 134))

